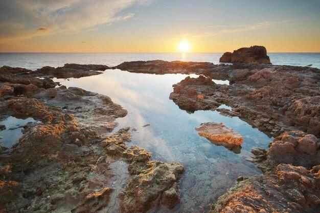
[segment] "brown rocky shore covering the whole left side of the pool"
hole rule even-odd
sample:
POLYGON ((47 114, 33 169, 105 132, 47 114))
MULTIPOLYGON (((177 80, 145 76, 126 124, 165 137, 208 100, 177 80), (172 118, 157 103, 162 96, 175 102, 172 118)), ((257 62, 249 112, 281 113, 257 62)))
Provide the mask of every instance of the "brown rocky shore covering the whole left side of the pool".
MULTIPOLYGON (((47 71, 55 77, 95 74, 92 65, 72 67, 47 71)), ((1 212, 144 212, 161 203, 168 208, 179 203, 184 167, 151 161, 146 150, 128 147, 129 127, 105 135, 126 110, 107 96, 56 87, 51 78, 38 75, 22 68, 0 69, 1 119, 41 121, 26 124, 17 144, 0 149, 1 212), (119 189, 112 187, 112 165, 121 162, 128 168, 127 183, 113 195, 119 189), (113 206, 111 197, 119 199, 113 206)))

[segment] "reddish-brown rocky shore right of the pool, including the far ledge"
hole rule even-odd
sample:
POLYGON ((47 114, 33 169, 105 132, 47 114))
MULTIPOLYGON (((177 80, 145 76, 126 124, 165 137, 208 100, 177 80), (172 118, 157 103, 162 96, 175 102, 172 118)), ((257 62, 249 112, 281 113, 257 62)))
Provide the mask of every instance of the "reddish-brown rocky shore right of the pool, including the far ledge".
MULTIPOLYGON (((239 49, 223 58, 239 62, 232 60, 234 54, 244 52, 244 56, 252 57, 253 52, 247 51, 239 49)), ((250 61, 259 58, 253 57, 245 61, 242 57, 245 63, 231 65, 157 60, 125 62, 117 68, 153 74, 199 74, 173 85, 170 99, 180 109, 191 113, 217 110, 226 116, 238 116, 276 137, 268 150, 252 150, 255 156, 250 161, 265 173, 239 177, 236 186, 213 205, 213 212, 318 212, 320 70, 270 65, 266 54, 262 55, 265 60, 250 61), (215 84, 212 79, 228 79, 230 85, 215 84), (232 110, 218 109, 221 104, 232 110)))

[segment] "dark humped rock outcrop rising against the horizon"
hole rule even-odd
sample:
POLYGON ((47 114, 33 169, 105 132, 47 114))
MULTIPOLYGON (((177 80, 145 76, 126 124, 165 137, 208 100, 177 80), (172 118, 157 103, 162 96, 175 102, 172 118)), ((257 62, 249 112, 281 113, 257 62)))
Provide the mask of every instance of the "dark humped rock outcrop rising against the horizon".
POLYGON ((219 62, 270 64, 270 58, 264 46, 250 46, 234 50, 233 53, 224 52, 219 62))

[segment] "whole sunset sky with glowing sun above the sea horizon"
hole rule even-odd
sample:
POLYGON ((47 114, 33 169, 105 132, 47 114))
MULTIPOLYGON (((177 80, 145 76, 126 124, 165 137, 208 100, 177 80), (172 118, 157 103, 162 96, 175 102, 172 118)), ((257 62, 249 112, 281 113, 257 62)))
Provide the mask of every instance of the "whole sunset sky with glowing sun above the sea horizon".
POLYGON ((0 52, 320 52, 320 0, 0 0, 0 52))

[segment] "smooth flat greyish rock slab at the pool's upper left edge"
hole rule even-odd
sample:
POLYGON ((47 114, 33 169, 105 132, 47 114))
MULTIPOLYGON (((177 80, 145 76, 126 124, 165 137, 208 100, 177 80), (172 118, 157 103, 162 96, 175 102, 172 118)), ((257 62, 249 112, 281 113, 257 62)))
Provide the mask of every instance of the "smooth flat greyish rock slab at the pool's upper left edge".
POLYGON ((112 131, 118 125, 116 118, 127 115, 127 111, 108 96, 76 87, 47 89, 33 97, 72 114, 83 125, 101 132, 112 131))

